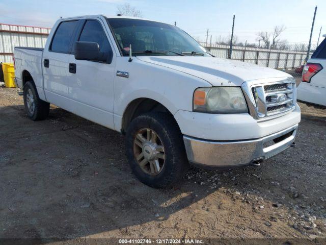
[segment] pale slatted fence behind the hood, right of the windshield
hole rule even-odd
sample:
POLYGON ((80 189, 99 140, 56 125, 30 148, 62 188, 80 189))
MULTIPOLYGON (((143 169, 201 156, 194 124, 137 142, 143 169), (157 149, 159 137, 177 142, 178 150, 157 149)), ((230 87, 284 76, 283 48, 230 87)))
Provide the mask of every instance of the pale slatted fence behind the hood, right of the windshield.
MULTIPOLYGON (((219 58, 228 58, 230 45, 213 44, 202 45, 210 53, 219 58)), ((258 47, 232 46, 232 60, 239 60, 275 69, 292 69, 304 63, 307 51, 268 50, 258 47)), ((310 53, 310 56, 312 52, 310 53)), ((309 56, 309 57, 310 57, 309 56)))

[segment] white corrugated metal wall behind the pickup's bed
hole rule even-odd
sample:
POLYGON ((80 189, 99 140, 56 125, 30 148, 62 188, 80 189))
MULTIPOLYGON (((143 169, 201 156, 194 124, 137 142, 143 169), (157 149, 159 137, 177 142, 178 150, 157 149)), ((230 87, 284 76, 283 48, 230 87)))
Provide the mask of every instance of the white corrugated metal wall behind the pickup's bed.
POLYGON ((15 46, 44 47, 51 29, 0 23, 0 62, 12 63, 15 46))

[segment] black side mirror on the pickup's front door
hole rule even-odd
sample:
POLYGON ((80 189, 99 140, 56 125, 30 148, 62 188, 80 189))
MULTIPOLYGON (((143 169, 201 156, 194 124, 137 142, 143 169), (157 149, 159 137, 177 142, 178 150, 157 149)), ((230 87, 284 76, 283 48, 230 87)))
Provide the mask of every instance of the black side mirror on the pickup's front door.
POLYGON ((91 60, 103 61, 111 63, 113 52, 100 52, 100 47, 96 42, 76 42, 75 43, 75 59, 76 60, 91 60))

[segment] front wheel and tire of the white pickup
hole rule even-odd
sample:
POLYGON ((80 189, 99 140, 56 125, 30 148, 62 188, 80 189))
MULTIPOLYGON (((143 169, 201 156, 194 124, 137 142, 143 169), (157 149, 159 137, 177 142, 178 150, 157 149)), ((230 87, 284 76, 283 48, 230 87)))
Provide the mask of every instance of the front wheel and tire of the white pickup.
POLYGON ((188 166, 182 134, 167 113, 134 118, 127 131, 126 149, 135 176, 153 188, 176 183, 188 166))

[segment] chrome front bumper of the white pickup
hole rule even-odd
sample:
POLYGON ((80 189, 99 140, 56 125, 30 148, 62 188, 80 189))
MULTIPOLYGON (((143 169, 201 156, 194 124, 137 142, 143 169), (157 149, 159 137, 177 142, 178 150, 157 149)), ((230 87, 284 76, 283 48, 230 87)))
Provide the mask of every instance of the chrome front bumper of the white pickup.
POLYGON ((253 140, 209 141, 183 136, 189 162, 202 167, 233 167, 273 157, 293 142, 298 125, 253 140))

